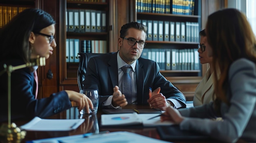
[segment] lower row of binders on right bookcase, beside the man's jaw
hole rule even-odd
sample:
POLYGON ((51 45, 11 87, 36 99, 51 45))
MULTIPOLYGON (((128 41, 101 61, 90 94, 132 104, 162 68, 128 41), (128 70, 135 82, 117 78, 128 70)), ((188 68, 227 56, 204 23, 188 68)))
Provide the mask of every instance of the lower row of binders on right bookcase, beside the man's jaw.
POLYGON ((148 49, 141 57, 158 63, 160 70, 200 70, 198 49, 148 49))

